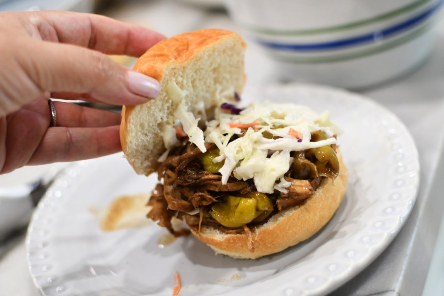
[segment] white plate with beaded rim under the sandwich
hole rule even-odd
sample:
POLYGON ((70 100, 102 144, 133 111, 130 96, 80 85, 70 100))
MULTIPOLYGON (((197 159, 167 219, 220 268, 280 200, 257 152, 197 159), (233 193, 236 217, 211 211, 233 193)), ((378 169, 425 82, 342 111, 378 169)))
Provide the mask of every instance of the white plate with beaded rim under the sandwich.
POLYGON ((29 266, 40 292, 53 295, 324 295, 370 264, 393 240, 415 202, 418 152, 400 120, 371 100, 310 85, 247 88, 244 100, 294 101, 330 110, 350 171, 344 202, 312 239, 258 260, 215 256, 192 237, 164 248, 166 230, 103 233, 91 207, 150 191, 120 154, 80 162, 60 176, 28 231, 29 266))

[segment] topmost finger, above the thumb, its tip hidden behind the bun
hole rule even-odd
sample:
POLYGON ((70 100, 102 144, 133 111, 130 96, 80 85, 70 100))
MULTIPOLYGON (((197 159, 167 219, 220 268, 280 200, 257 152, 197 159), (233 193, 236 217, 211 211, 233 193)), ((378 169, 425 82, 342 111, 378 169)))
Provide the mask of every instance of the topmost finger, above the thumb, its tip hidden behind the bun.
POLYGON ((43 40, 80 45, 104 54, 141 56, 165 39, 153 30, 93 14, 41 11, 29 13, 29 19, 43 40))

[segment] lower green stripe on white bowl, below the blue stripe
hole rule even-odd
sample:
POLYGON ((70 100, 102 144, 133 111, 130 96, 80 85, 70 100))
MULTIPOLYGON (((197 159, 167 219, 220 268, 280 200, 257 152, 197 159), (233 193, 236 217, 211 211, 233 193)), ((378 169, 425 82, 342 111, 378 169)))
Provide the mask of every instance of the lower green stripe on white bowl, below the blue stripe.
POLYGON ((416 37, 419 37, 422 34, 424 34, 433 26, 434 23, 435 21, 429 21, 425 23, 425 25, 421 26, 420 28, 417 28, 416 30, 413 30, 412 32, 404 35, 403 37, 397 38, 392 41, 388 41, 387 43, 378 46, 376 48, 361 50, 353 53, 332 55, 332 56, 318 56, 318 57, 291 57, 291 56, 277 56, 273 54, 272 55, 273 57, 275 57, 280 61, 290 62, 295 64, 318 64, 318 63, 334 63, 334 62, 346 61, 355 58, 376 55, 381 52, 387 51, 389 49, 401 46, 415 39, 416 37))

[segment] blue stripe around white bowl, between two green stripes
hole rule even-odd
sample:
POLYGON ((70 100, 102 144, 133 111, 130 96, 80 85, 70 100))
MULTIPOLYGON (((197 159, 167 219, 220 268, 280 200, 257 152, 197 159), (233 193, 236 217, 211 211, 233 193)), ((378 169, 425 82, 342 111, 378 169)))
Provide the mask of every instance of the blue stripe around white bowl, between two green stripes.
POLYGON ((258 42, 269 48, 278 49, 278 50, 284 50, 284 51, 322 51, 322 50, 329 50, 329 49, 340 49, 344 47, 350 47, 353 45, 359 45, 363 43, 368 42, 375 42, 380 41, 382 39, 391 37, 393 35, 402 33, 403 31, 406 31, 410 29, 411 27, 420 24, 421 22, 425 21, 429 17, 431 17, 433 14, 437 13, 439 8, 442 6, 444 0, 439 0, 435 5, 430 7, 429 9, 425 10, 424 12, 407 19, 405 21, 402 21, 398 24, 395 24, 391 27, 388 27, 386 29, 374 31, 365 35, 351 37, 351 38, 344 38, 339 39, 335 41, 329 41, 329 42, 320 42, 320 43, 305 43, 305 44, 286 44, 286 43, 278 43, 278 42, 268 42, 264 40, 258 40, 258 42))

